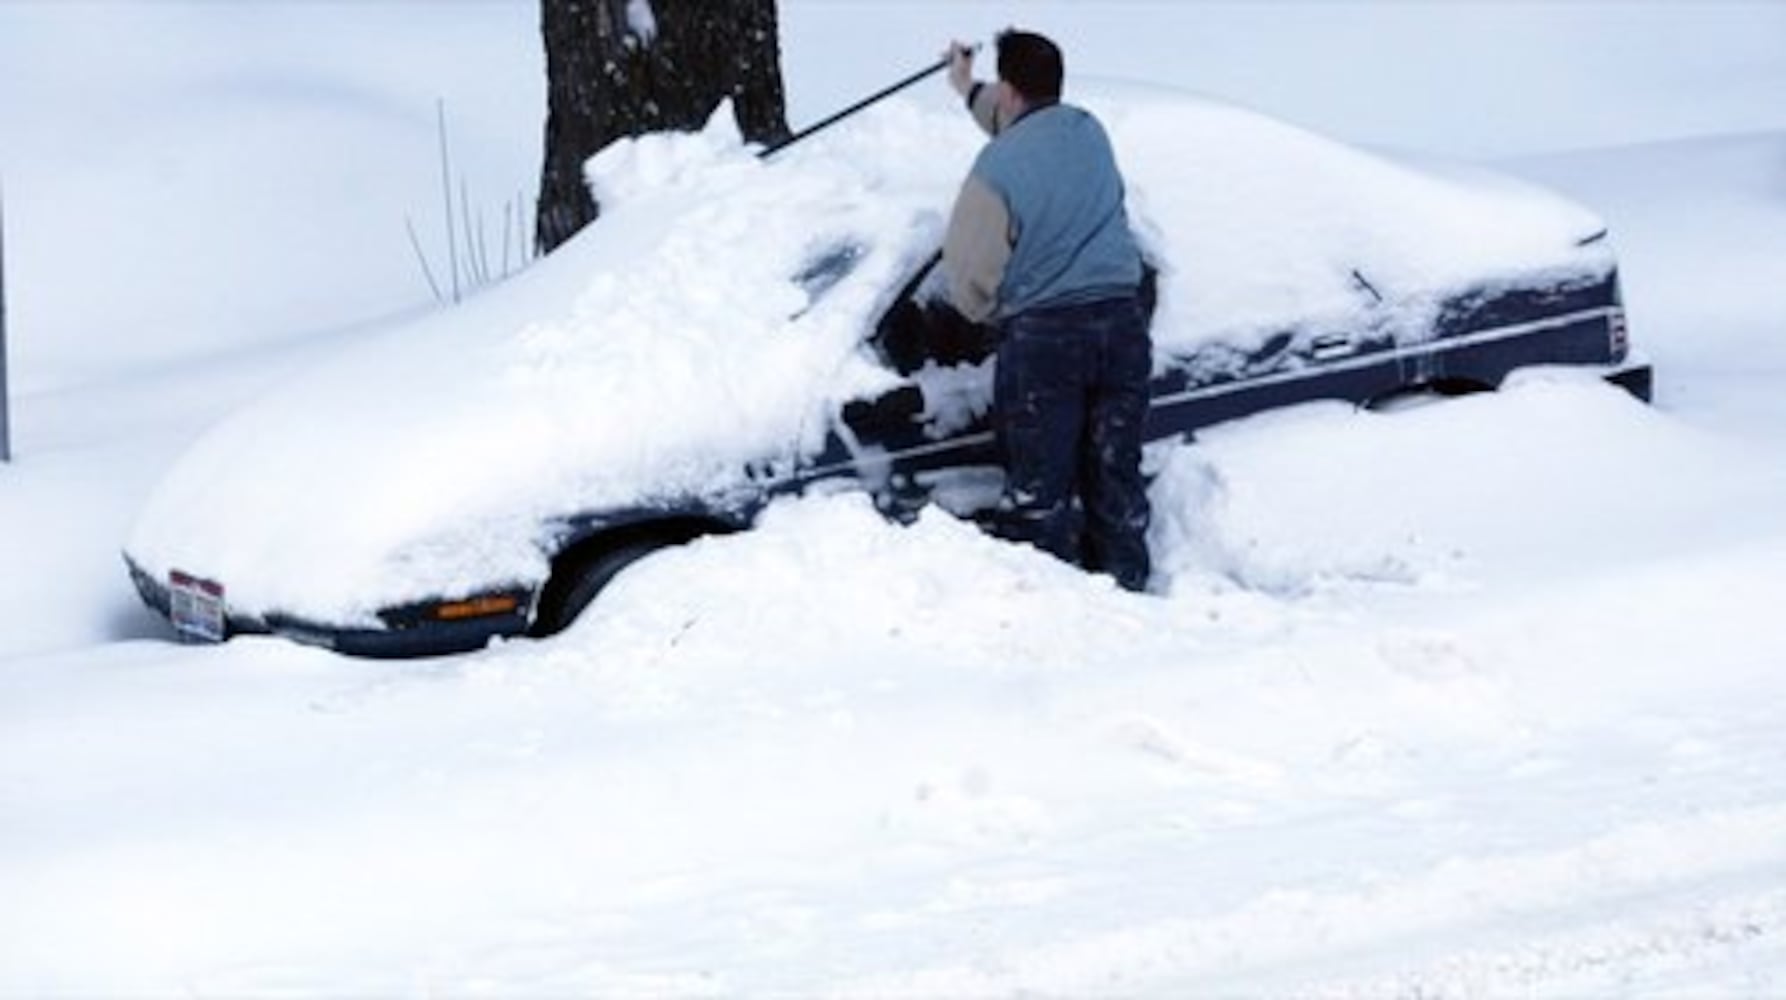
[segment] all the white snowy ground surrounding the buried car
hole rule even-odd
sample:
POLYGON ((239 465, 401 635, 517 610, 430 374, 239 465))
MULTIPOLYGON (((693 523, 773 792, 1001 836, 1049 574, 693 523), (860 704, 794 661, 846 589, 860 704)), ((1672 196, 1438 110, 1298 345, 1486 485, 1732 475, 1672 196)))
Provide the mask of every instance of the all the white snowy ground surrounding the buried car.
POLYGON ((1023 21, 1516 157, 1611 221, 1657 405, 1538 373, 1216 429, 1156 455, 1164 598, 823 498, 550 643, 175 646, 116 557, 145 493, 416 307, 434 95, 529 186, 532 5, 0 7, 0 993, 1786 991, 1786 7, 973 11, 788 4, 797 118, 875 82, 845 14, 918 54, 882 79, 1023 21), (121 62, 57 48, 95 23, 121 62))

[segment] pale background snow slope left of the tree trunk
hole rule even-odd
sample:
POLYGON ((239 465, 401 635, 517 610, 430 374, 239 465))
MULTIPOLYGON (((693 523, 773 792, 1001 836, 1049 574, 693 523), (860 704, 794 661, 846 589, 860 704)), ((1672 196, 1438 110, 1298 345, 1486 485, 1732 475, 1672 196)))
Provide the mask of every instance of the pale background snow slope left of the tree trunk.
POLYGON ((493 268, 504 202, 534 195, 527 5, 13 4, 0 66, 14 386, 432 305, 405 216, 445 282, 436 102, 493 268))

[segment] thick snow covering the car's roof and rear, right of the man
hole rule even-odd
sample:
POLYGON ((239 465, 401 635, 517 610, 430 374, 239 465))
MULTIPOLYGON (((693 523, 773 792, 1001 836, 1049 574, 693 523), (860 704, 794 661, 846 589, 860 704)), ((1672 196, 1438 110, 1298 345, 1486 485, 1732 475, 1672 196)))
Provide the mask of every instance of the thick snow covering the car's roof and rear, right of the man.
MULTIPOLYGON (((1418 336, 1484 282, 1600 277, 1590 211, 1488 171, 1388 161, 1261 114, 1156 93, 1104 112, 1163 264, 1156 343, 1306 327, 1418 336)), ((1102 109, 1100 102, 1091 102, 1102 109)))

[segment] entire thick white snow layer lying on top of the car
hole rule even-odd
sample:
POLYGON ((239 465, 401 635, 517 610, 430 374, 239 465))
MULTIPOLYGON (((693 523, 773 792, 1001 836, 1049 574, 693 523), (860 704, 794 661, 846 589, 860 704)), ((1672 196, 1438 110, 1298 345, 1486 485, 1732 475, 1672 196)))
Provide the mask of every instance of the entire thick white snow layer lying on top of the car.
MULTIPOLYGON (((1086 100, 1161 266, 1156 346, 1248 341, 1486 279, 1604 273, 1590 212, 1170 93, 1086 100)), ((863 346, 941 241, 982 138, 888 102, 757 161, 725 121, 589 164, 602 218, 507 284, 391 329, 202 438, 127 546, 221 580, 234 612, 371 625, 384 607, 545 579, 582 511, 722 498, 814 454, 897 377, 863 346)))

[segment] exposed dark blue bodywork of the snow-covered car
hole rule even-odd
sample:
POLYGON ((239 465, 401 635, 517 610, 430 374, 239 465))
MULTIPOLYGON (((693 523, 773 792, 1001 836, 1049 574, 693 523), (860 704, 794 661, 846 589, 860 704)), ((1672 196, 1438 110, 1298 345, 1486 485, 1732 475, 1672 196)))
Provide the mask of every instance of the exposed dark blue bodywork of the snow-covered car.
MULTIPOLYGON (((872 348, 909 375, 927 362, 957 364, 988 357, 993 334, 961 320, 947 305, 918 302, 932 257, 900 291, 882 316, 872 348)), ((1354 271, 1361 295, 1381 296, 1366 275, 1354 271)), ((1152 271, 1143 300, 1152 312, 1152 271)), ((1147 439, 1184 438, 1197 429, 1266 409, 1314 400, 1368 405, 1393 393, 1438 384, 1498 386, 1511 371, 1534 364, 1598 366, 1632 395, 1650 398, 1650 370, 1627 364, 1618 273, 1582 277, 1548 286, 1491 288, 1445 302, 1429 330, 1411 343, 1372 325, 1366 307, 1359 329, 1281 330, 1250 350, 1211 343, 1191 355, 1170 357, 1152 384, 1147 439)), ((984 416, 970 427, 936 438, 925 425, 925 400, 906 384, 873 400, 841 407, 825 446, 784 475, 752 475, 752 488, 725 498, 668 498, 623 511, 588 511, 564 518, 550 534, 555 566, 604 539, 663 530, 675 541, 697 534, 748 527, 775 496, 802 493, 818 482, 855 480, 877 505, 907 518, 927 500, 925 473, 950 468, 997 466, 993 434, 984 416)), ((170 609, 164 580, 130 564, 143 600, 163 614, 170 609)), ((514 611, 443 621, 432 614, 441 602, 418 602, 379 614, 382 629, 341 629, 270 614, 264 620, 230 616, 229 634, 279 634, 302 643, 364 657, 414 657, 472 652, 491 639, 525 636, 532 627, 541 588, 493 582, 477 595, 445 600, 513 595, 514 611)))

